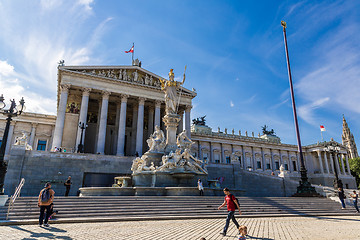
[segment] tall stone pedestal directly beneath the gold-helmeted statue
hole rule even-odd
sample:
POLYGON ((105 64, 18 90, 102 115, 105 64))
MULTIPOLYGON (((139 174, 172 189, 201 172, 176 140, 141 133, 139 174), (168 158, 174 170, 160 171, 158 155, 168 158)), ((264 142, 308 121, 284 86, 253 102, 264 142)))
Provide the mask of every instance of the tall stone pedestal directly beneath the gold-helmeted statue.
POLYGON ((166 126, 166 148, 165 153, 168 154, 169 152, 177 149, 176 146, 176 130, 181 120, 180 115, 178 114, 167 114, 163 117, 163 121, 166 126))

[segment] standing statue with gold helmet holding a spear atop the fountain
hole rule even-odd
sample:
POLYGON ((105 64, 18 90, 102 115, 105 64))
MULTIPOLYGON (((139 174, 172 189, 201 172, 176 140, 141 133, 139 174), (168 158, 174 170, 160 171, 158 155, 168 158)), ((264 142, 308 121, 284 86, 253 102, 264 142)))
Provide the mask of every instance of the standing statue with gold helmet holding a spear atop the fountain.
POLYGON ((159 78, 161 82, 161 90, 165 92, 166 114, 177 114, 176 112, 176 107, 178 103, 177 90, 185 82, 185 72, 182 82, 177 82, 174 80, 174 78, 175 75, 173 69, 170 69, 169 80, 159 78))

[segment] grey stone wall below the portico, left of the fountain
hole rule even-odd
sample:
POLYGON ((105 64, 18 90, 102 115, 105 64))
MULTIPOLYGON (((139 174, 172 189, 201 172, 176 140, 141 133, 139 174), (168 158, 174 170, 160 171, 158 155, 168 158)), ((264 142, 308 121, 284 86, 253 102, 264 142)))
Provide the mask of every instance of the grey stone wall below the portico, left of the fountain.
MULTIPOLYGON (((51 181, 56 195, 65 193, 64 181, 70 175, 70 195, 76 195, 83 186, 86 173, 129 175, 133 157, 116 157, 95 154, 25 151, 13 146, 5 178, 5 194, 14 193, 21 178, 25 178, 22 196, 36 196, 44 182, 51 181)), ((96 179, 95 179, 96 180, 96 179)))

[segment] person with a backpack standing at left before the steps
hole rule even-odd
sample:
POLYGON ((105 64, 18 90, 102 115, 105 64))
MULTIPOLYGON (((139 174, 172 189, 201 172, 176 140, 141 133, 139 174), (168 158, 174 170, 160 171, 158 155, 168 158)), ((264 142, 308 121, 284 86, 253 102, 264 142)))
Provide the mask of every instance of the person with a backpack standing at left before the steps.
POLYGON ((46 210, 46 216, 44 221, 44 227, 48 227, 48 221, 51 214, 51 204, 54 200, 55 192, 51 189, 51 183, 46 183, 45 188, 40 191, 38 198, 38 207, 40 207, 39 226, 43 224, 44 213, 46 210))

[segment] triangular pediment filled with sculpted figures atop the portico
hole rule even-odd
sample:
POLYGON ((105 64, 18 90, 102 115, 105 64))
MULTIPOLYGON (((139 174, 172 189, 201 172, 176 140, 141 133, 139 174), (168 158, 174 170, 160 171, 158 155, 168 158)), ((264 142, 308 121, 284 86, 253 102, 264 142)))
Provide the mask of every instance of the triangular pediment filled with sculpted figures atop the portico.
MULTIPOLYGON (((142 85, 161 90, 162 77, 138 66, 59 66, 59 71, 70 72, 99 79, 142 85)), ((181 87, 183 94, 195 97, 196 93, 181 87)))

